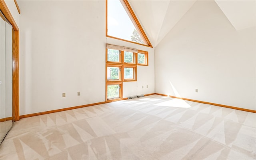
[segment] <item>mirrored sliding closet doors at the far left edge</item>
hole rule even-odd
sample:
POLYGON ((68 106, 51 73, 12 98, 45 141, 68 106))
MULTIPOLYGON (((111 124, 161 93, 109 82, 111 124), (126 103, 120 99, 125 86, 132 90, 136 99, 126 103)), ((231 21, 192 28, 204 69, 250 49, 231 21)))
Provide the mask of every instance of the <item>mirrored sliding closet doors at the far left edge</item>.
POLYGON ((0 12, 0 142, 14 122, 12 100, 12 44, 14 30, 0 12))

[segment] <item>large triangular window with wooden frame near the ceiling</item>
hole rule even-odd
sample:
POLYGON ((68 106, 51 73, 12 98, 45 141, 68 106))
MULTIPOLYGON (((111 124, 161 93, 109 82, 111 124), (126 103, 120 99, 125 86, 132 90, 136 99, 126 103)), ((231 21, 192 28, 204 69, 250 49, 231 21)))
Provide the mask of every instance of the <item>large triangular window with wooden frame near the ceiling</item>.
POLYGON ((106 0, 106 36, 152 47, 127 0, 106 0))

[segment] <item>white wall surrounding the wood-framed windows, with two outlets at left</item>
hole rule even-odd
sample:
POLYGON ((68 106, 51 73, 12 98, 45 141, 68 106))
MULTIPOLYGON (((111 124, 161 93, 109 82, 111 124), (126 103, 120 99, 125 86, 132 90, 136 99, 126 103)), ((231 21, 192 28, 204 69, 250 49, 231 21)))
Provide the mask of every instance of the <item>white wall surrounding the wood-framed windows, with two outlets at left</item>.
POLYGON ((123 96, 154 93, 154 49, 106 38, 105 1, 19 5, 20 115, 104 102, 106 43, 149 51, 150 66, 138 66, 138 81, 125 82, 123 96))

